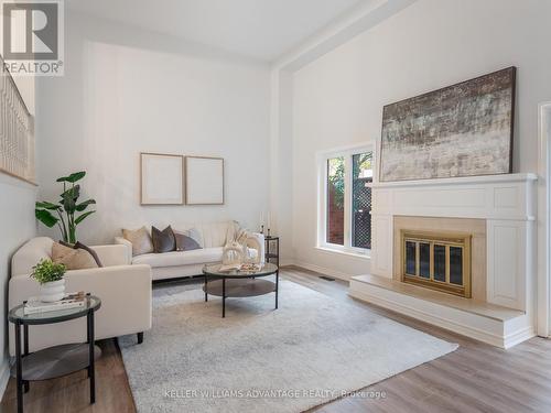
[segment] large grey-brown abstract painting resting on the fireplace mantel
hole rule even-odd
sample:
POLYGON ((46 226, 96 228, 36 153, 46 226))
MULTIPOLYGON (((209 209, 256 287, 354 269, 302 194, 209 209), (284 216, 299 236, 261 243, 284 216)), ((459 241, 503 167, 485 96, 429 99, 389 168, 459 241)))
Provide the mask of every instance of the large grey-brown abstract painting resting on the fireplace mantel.
POLYGON ((386 106, 379 180, 512 172, 515 84, 509 67, 386 106))

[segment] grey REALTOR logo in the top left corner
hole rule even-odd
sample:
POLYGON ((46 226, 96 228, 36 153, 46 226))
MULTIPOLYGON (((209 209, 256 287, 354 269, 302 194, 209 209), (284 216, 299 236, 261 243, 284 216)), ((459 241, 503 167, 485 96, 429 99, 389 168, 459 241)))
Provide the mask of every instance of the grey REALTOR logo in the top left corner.
POLYGON ((13 75, 63 75, 62 0, 2 4, 2 55, 13 75))

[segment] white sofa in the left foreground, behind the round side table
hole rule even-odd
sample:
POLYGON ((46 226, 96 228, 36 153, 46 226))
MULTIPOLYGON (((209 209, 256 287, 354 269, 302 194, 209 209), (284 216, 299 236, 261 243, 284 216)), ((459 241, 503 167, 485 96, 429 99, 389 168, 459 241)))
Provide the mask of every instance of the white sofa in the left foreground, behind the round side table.
MULTIPOLYGON (((39 295, 39 283, 30 278, 32 267, 41 259, 51 258, 53 240, 33 238, 13 256, 9 282, 9 308, 31 296, 39 295)), ((151 268, 128 265, 127 248, 123 246, 91 247, 104 268, 67 271, 67 292, 85 291, 101 298, 96 313, 96 339, 138 334, 151 329, 151 268)), ((15 354, 14 329, 10 323, 10 355, 15 354)), ((45 347, 86 341, 86 319, 31 326, 29 347, 36 351, 45 347)))

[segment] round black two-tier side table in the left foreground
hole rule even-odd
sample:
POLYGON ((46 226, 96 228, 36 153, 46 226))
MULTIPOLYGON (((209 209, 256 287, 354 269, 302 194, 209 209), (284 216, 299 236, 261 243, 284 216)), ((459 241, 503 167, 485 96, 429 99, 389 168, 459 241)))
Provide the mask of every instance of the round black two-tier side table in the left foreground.
POLYGON ((24 304, 10 309, 8 319, 15 325, 15 365, 11 376, 17 379, 18 412, 23 412, 23 389, 29 391, 30 381, 55 379, 88 370, 90 379, 90 404, 96 402, 95 359, 101 356, 101 350, 95 345, 94 313, 101 306, 101 300, 87 295, 83 307, 60 309, 55 312, 24 314, 24 304), (69 319, 85 317, 87 319, 87 341, 45 348, 29 352, 29 326, 56 324, 69 319), (21 326, 23 326, 23 354, 21 354, 21 326))

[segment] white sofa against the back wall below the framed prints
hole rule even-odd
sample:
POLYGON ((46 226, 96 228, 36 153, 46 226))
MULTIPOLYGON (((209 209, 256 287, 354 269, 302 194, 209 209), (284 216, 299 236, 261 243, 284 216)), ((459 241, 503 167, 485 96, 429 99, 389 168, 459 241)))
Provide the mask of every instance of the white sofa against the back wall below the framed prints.
MULTIPOLYGON (((164 226, 160 226, 164 228, 164 226)), ((159 227, 159 228, 160 228, 159 227)), ((153 280, 168 280, 183 276, 201 275, 205 264, 222 262, 224 246, 236 228, 235 221, 209 224, 183 224, 172 226, 174 230, 196 229, 201 236, 202 249, 193 251, 173 251, 164 253, 147 253, 132 257, 132 243, 122 237, 116 237, 115 242, 126 246, 128 263, 148 264, 151 267, 153 280)), ((264 236, 250 233, 247 244, 253 254, 264 258, 264 236), (259 249, 259 250, 258 250, 259 249)))

